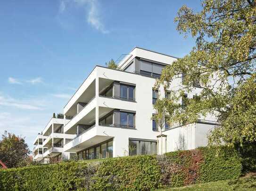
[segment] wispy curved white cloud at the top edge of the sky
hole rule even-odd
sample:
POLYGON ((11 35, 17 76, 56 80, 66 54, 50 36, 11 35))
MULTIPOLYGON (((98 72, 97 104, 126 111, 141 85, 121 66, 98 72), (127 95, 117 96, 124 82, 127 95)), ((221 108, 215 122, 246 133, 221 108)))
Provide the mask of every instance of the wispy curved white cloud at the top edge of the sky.
POLYGON ((66 5, 68 3, 75 3, 77 6, 84 8, 86 10, 87 23, 91 24, 91 26, 103 34, 109 33, 109 31, 105 29, 105 26, 99 16, 100 11, 98 0, 62 0, 59 6, 59 13, 65 12, 66 5))

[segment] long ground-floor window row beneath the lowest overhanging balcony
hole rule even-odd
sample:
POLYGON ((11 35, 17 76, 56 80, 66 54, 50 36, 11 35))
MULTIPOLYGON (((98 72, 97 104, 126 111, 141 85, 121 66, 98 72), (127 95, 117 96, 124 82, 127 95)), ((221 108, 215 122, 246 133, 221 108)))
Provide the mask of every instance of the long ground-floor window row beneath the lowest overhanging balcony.
POLYGON ((108 140, 77 153, 80 160, 113 158, 113 140, 108 140))

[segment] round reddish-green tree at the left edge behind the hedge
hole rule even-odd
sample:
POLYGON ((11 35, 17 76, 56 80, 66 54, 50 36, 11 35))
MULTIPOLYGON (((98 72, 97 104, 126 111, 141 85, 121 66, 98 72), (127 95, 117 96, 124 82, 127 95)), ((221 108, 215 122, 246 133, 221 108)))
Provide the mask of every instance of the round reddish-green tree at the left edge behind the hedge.
POLYGON ((2 140, 0 140, 0 160, 8 168, 26 166, 30 153, 24 138, 11 133, 7 134, 7 131, 5 131, 2 140))

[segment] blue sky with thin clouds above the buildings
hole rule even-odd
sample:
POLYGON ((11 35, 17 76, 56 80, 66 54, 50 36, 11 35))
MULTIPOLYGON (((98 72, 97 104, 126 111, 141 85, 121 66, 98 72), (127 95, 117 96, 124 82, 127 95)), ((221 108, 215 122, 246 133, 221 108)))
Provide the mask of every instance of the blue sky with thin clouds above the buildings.
POLYGON ((30 149, 95 65, 135 46, 182 57, 195 40, 176 31, 179 8, 200 0, 1 0, 0 134, 30 149))

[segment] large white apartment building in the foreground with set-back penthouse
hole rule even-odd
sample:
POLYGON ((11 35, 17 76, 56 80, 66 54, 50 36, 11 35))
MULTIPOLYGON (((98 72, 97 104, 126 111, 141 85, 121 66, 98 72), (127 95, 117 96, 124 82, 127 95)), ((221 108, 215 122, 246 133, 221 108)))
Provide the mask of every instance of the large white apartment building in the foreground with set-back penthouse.
MULTIPOLYGON (((61 151, 52 153, 71 152, 77 153, 80 159, 98 159, 205 146, 207 134, 217 124, 215 118, 208 116, 186 127, 166 124, 162 136, 151 119, 156 112, 153 104, 168 93, 162 87, 153 91, 156 78, 176 59, 135 47, 119 62, 120 70, 95 66, 64 107, 64 119, 73 118, 64 120, 61 135, 71 138, 75 134, 74 139, 66 141, 61 151)), ((182 77, 175 79, 170 89, 181 85, 182 77)), ((200 88, 195 87, 187 96, 192 98, 198 92, 200 88)), ((50 140, 50 145, 54 144, 50 136, 54 128, 52 125, 50 133, 46 133, 48 126, 42 134, 49 136, 43 146, 50 140)))

